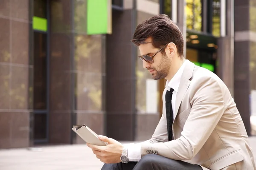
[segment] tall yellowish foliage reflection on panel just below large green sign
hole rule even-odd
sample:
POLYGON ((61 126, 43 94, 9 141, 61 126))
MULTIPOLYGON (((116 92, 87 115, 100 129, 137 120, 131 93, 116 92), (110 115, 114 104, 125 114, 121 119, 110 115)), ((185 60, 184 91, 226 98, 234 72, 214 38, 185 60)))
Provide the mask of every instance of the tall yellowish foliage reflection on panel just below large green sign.
POLYGON ((102 39, 101 35, 75 37, 75 109, 102 109, 102 39))

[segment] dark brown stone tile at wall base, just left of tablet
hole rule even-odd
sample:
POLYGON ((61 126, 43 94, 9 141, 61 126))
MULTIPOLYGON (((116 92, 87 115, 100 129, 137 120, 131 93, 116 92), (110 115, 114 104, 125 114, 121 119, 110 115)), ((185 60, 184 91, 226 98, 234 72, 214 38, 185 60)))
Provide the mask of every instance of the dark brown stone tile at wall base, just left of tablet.
POLYGON ((71 142, 71 115, 70 113, 49 114, 49 143, 70 144, 71 142))

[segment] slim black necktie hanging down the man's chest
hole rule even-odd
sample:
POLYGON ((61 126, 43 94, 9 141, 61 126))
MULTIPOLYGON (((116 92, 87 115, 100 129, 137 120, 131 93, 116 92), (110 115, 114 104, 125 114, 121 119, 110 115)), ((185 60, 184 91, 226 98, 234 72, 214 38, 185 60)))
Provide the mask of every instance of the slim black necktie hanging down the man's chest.
POLYGON ((166 121, 167 121, 167 133, 168 133, 168 141, 172 140, 172 123, 173 123, 173 111, 172 111, 172 92, 166 91, 166 121))

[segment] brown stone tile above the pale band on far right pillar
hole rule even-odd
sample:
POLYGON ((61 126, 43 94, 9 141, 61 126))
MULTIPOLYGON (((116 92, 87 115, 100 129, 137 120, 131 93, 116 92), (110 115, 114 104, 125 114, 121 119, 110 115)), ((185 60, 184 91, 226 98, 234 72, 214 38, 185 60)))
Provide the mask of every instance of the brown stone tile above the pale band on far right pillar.
POLYGON ((235 31, 247 31, 250 29, 250 7, 235 7, 235 31))

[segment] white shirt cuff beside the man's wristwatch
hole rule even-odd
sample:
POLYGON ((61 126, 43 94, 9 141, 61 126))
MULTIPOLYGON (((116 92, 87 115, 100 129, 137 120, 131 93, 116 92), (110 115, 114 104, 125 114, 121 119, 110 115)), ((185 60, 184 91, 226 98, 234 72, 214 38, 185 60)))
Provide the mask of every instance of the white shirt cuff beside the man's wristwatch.
POLYGON ((127 148, 127 155, 129 161, 140 161, 140 144, 124 144, 124 147, 127 148))

